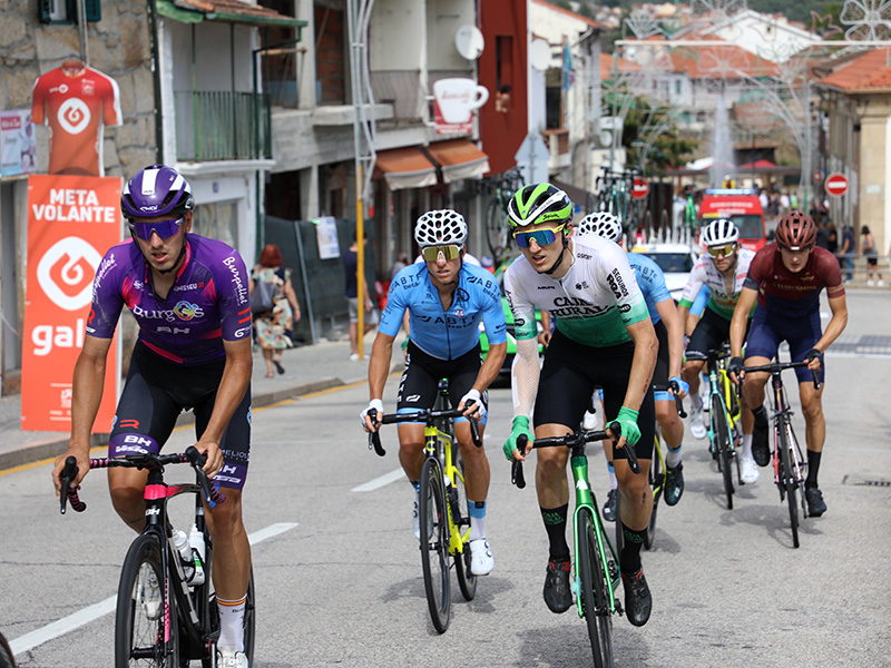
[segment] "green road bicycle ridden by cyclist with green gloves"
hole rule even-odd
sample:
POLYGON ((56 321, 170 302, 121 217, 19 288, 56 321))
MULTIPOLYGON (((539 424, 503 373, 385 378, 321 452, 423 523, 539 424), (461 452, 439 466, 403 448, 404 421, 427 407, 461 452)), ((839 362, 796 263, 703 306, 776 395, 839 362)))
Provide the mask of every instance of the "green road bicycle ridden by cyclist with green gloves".
MULTIPOLYGON (((609 431, 578 431, 565 436, 536 439, 532 448, 562 446, 570 450, 570 466, 576 490, 576 509, 572 513, 572 546, 576 554, 572 593, 576 596, 578 616, 585 618, 588 638, 596 668, 613 666, 613 616, 624 615, 621 603, 615 596, 621 581, 619 552, 609 542, 604 522, 597 510, 597 500, 588 481, 588 456, 586 443, 618 438, 621 429, 618 422, 609 425, 609 431)), ((528 443, 525 434, 517 439, 517 449, 523 450, 528 443)), ((637 456, 630 445, 625 446, 628 465, 635 473, 640 472, 637 456)), ((526 487, 522 462, 513 460, 511 482, 519 489, 526 487)))

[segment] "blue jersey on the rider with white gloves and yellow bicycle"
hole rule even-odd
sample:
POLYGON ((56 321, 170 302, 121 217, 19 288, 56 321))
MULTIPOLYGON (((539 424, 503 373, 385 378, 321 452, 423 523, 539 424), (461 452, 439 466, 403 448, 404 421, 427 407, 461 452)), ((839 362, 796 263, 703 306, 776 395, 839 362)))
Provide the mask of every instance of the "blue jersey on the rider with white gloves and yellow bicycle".
POLYGON ((501 291, 495 276, 483 268, 462 263, 458 286, 448 311, 430 279, 427 263, 400 269, 390 284, 379 332, 395 336, 409 311, 411 340, 428 355, 454 360, 479 343, 482 320, 491 345, 507 341, 501 291))

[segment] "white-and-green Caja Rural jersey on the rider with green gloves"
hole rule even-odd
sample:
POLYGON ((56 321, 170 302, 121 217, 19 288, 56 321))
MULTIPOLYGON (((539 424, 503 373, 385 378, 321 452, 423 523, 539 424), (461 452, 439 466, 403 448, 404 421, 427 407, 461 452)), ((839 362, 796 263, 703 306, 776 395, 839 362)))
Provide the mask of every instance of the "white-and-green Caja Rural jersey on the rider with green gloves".
MULTIPOLYGON (((562 278, 539 274, 518 257, 505 275, 518 341, 535 338, 535 308, 557 318, 557 328, 582 345, 606 347, 630 341, 626 327, 649 317, 628 256, 600 237, 570 240, 572 265, 562 278)), ((564 262, 567 259, 565 258, 564 262)))

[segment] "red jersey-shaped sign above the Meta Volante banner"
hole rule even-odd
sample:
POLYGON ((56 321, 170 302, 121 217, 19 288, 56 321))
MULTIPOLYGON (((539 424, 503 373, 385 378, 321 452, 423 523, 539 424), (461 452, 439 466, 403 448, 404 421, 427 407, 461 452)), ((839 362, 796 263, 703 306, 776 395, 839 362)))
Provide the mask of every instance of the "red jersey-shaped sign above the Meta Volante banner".
POLYGON ((31 120, 49 125, 49 174, 104 176, 102 128, 123 124, 117 81, 67 60, 35 82, 31 120))

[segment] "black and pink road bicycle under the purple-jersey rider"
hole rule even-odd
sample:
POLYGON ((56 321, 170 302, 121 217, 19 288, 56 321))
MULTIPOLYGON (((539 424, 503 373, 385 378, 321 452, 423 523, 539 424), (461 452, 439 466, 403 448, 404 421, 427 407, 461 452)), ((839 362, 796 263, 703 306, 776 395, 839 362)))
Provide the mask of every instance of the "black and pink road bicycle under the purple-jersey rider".
MULTIPOLYGON (((151 452, 117 458, 91 459, 90 469, 125 466, 148 471, 144 498, 146 524, 133 541, 120 571, 115 615, 115 667, 153 666, 187 668, 200 660, 203 668, 216 665, 216 640, 219 637, 219 613, 213 591, 212 569, 214 543, 204 515, 203 499, 210 508, 226 497, 218 492, 202 470, 204 455, 195 446, 184 453, 151 452), (196 483, 167 484, 164 466, 190 464, 196 483), (195 495, 195 530, 204 539, 204 556, 193 552, 194 562, 186 563, 174 544, 174 531, 167 515, 167 502, 179 494, 195 495), (199 573, 203 571, 204 577, 199 573), (157 590, 157 591, 156 591, 157 590)), ((70 482, 77 475, 77 460, 69 456, 62 470, 61 513, 66 502, 77 512, 86 509, 70 482)), ((245 656, 253 664, 254 577, 251 574, 244 615, 245 656)))

